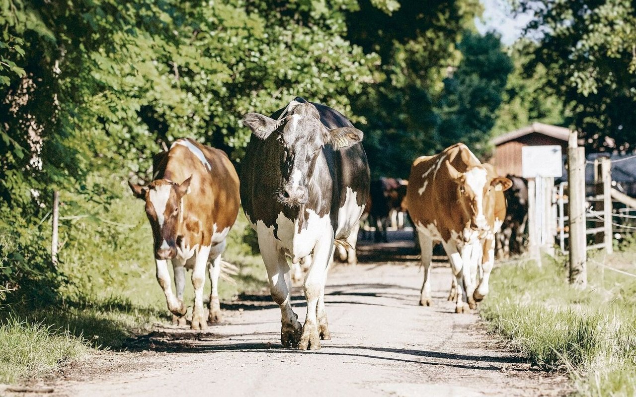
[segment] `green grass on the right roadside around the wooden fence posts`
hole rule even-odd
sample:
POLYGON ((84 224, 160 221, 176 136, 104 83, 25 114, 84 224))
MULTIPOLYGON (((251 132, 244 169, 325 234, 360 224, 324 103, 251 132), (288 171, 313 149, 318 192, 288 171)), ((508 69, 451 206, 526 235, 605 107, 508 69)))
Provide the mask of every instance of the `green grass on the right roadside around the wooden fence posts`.
POLYGON ((583 396, 636 395, 636 245, 588 259, 588 288, 567 283, 567 259, 494 270, 481 316, 533 363, 569 373, 583 396))

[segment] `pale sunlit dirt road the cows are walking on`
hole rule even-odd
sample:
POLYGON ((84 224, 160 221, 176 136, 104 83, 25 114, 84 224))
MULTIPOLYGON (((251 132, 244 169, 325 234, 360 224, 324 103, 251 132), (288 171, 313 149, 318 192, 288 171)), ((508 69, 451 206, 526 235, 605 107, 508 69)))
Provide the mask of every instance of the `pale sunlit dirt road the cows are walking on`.
MULTIPOLYGON (((280 347, 280 311, 248 296, 207 332, 158 328, 141 353, 103 353, 51 385, 65 396, 542 396, 565 393, 562 377, 532 372, 446 301, 447 267, 432 269, 434 306, 420 307, 422 273, 401 245, 361 253, 366 262, 329 275, 332 339, 314 352, 280 347), (388 250, 388 251, 387 251, 388 250), (391 258, 397 262, 387 263, 391 258), (242 309, 242 311, 239 311, 242 309)), ((303 320, 300 293, 294 311, 303 320)), ((227 306, 226 306, 227 307, 227 306)))

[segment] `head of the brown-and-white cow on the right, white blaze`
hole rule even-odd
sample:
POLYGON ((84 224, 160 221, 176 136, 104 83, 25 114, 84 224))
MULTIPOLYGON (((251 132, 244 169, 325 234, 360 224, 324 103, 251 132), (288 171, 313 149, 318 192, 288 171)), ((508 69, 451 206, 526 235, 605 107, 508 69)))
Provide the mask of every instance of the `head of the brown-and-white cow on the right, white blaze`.
POLYGON ((446 161, 446 169, 457 187, 457 201, 466 222, 464 228, 473 231, 486 229, 488 225, 484 213, 485 197, 491 187, 495 190, 502 189, 501 179, 505 178, 489 178, 487 169, 482 165, 469 166, 466 172, 459 172, 446 161))

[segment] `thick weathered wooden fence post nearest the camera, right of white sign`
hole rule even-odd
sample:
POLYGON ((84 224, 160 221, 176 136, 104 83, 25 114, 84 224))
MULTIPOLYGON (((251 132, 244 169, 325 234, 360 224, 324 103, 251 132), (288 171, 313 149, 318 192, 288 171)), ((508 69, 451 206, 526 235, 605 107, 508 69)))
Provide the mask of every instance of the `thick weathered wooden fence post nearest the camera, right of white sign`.
POLYGON ((585 149, 577 145, 576 131, 570 132, 567 147, 570 225, 570 284, 585 288, 587 241, 585 234, 585 149))

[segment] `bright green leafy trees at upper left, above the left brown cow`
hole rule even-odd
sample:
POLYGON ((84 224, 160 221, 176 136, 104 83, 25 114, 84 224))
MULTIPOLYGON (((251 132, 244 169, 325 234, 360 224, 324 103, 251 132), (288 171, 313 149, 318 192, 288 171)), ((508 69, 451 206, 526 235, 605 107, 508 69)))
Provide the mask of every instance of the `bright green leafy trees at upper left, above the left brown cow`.
MULTIPOLYGON (((98 222, 125 180, 151 178, 151 155, 162 143, 193 137, 239 162, 249 137, 239 122, 245 112, 272 112, 303 95, 349 113, 348 96, 372 81, 377 64, 377 55, 344 38, 344 11, 353 6, 0 3, 0 234, 19 242, 0 284, 26 285, 37 264, 54 270, 45 249, 31 249, 45 246, 38 224, 54 189, 81 196, 74 210, 90 210, 98 222), (42 255, 24 260, 31 252, 42 255)), ((0 258, 7 252, 0 245, 0 258)))

